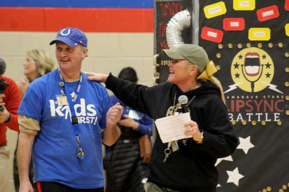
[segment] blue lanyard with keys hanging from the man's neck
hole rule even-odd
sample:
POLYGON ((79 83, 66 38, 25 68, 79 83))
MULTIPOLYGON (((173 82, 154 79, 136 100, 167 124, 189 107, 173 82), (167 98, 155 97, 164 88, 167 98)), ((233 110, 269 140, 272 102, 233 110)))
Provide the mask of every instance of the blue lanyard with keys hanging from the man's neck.
POLYGON ((67 83, 65 83, 65 80, 62 77, 59 69, 58 69, 58 73, 59 73, 60 79, 62 80, 62 82, 61 81, 59 82, 60 92, 61 92, 62 95, 64 95, 64 91, 62 89, 62 87, 64 86, 66 97, 67 97, 67 101, 68 101, 69 108, 70 108, 70 111, 71 111, 71 121, 72 121, 73 129, 74 129, 75 137, 77 139, 77 155, 76 155, 76 158, 80 158, 80 166, 82 167, 85 164, 85 160, 84 160, 84 156, 85 155, 84 155, 84 152, 82 151, 82 146, 80 144, 80 130, 79 130, 78 120, 77 120, 77 117, 75 115, 74 106, 73 106, 73 102, 76 101, 77 95, 80 92, 80 88, 81 88, 81 84, 82 84, 82 75, 80 73, 80 80, 79 80, 77 89, 75 91, 75 96, 73 97, 73 99, 71 99, 67 83))

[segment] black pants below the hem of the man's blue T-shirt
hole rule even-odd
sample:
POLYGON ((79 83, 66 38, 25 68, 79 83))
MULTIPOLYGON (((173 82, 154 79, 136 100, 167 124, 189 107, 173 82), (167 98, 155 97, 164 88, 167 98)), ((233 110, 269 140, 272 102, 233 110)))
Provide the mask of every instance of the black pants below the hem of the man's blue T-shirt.
POLYGON ((37 192, 104 192, 104 188, 75 189, 61 183, 38 181, 37 192))

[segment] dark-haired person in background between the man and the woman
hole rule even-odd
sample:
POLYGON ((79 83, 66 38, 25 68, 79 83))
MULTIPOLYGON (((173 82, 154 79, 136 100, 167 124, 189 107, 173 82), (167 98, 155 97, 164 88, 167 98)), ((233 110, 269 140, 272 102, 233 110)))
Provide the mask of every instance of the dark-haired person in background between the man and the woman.
MULTIPOLYGON (((119 78, 137 82, 138 77, 131 67, 122 69, 119 78)), ((151 155, 152 119, 146 114, 133 110, 119 99, 110 96, 112 105, 124 107, 118 126, 121 135, 113 146, 105 148, 103 160, 106 170, 106 192, 144 191, 145 172, 151 155), (143 154, 141 154, 141 152, 143 154)))

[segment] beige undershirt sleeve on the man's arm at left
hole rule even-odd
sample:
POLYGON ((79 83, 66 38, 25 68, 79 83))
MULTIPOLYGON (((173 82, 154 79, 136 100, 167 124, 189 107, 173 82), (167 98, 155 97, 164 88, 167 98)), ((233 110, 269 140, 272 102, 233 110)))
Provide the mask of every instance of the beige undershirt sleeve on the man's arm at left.
POLYGON ((18 123, 20 133, 24 132, 31 135, 37 135, 38 131, 40 131, 39 121, 32 119, 29 116, 19 114, 18 123))

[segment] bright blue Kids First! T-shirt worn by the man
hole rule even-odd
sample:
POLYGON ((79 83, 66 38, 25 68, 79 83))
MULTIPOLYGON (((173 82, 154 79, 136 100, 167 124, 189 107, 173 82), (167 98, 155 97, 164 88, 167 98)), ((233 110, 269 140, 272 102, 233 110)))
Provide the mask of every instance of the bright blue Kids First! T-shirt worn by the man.
MULTIPOLYGON (((78 189, 104 186, 101 128, 106 127, 106 113, 112 104, 100 83, 89 81, 84 73, 81 75, 80 92, 73 105, 85 154, 82 168, 80 159, 75 158, 77 140, 70 108, 57 105, 56 96, 61 95, 57 69, 34 80, 22 99, 18 114, 40 122, 40 131, 33 144, 35 181, 59 182, 78 189)), ((78 83, 66 82, 72 98, 78 83)))

